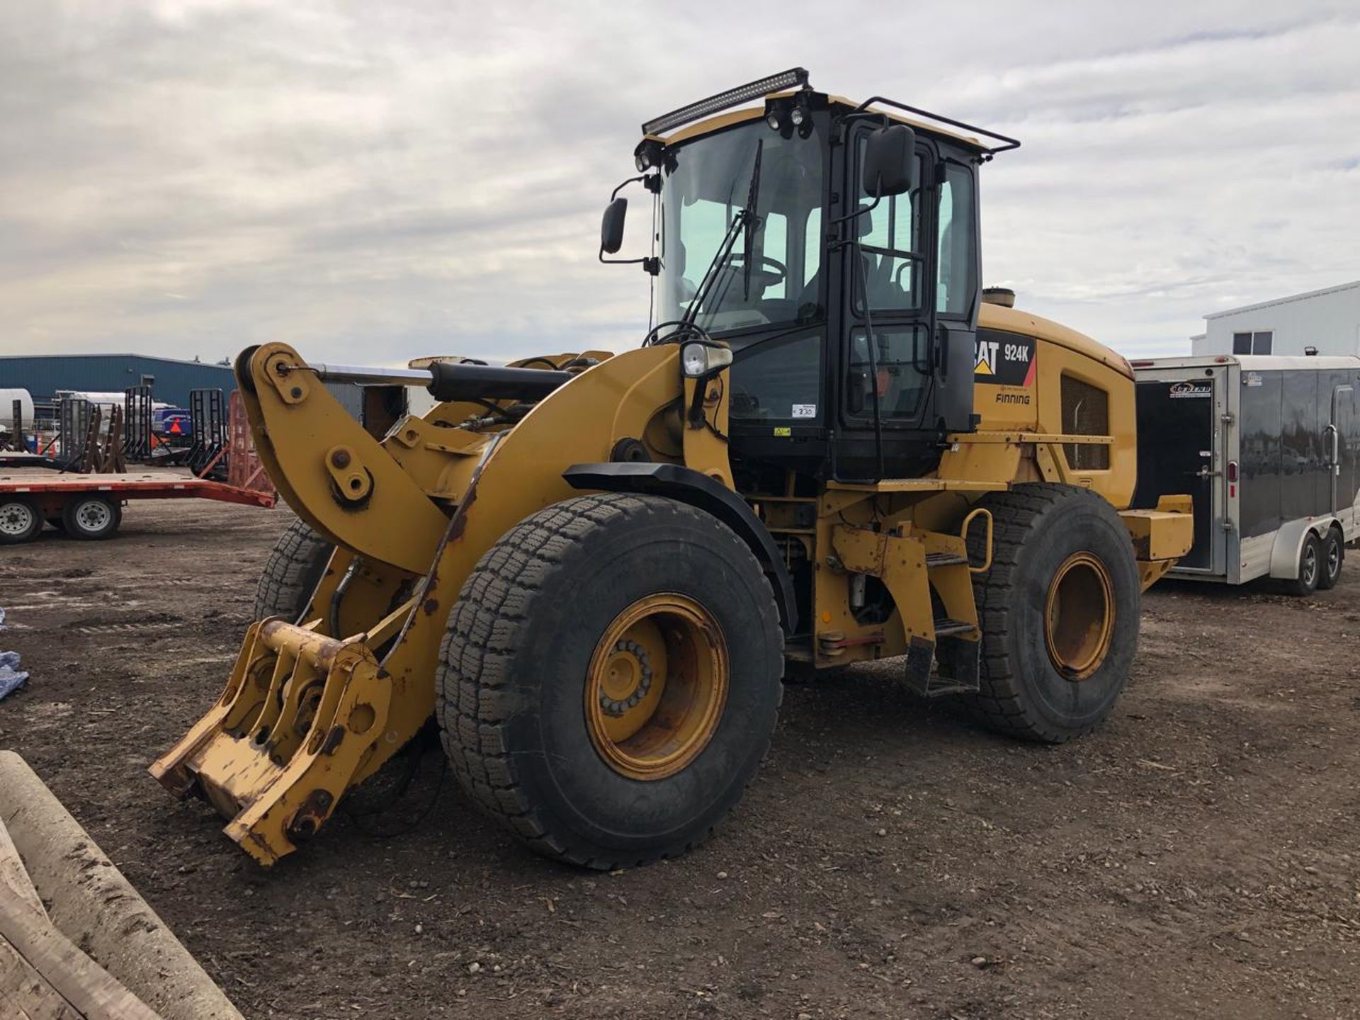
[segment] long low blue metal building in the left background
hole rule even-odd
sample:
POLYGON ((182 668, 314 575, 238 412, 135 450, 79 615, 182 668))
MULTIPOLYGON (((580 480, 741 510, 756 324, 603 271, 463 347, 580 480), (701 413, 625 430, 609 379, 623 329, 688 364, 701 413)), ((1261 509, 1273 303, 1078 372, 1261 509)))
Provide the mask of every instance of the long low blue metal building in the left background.
POLYGON ((189 390, 237 388, 224 364, 181 362, 140 354, 49 354, 0 356, 0 389, 19 388, 34 404, 52 404, 57 390, 113 393, 154 379, 151 394, 177 407, 189 405, 189 390))

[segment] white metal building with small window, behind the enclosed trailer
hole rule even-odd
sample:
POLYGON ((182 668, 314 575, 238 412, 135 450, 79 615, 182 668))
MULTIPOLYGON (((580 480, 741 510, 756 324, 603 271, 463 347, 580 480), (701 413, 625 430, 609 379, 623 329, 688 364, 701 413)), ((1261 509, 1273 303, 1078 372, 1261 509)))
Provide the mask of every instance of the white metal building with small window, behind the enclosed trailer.
POLYGON ((1195 356, 1216 354, 1360 354, 1360 280, 1205 316, 1190 337, 1195 356), (1308 348, 1315 351, 1308 351, 1308 348))

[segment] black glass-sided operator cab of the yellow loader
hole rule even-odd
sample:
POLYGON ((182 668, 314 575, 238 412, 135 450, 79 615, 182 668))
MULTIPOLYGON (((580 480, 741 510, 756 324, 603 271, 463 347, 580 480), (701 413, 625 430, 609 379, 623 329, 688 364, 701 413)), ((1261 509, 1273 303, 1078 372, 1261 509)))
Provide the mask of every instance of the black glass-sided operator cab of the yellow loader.
POLYGON ((733 348, 730 454, 748 475, 914 477, 974 427, 990 151, 880 103, 783 91, 638 147, 656 321, 733 348), (885 159, 896 186, 880 193, 885 159))

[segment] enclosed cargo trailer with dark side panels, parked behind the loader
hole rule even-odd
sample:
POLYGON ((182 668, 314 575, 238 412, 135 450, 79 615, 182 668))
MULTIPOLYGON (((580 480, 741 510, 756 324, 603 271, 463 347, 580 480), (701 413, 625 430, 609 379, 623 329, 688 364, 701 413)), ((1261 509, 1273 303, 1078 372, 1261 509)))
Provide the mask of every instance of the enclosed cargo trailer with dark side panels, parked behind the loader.
POLYGON ((1134 506, 1194 498, 1194 545, 1171 574, 1307 594, 1337 582, 1360 537, 1360 358, 1133 362, 1134 506))

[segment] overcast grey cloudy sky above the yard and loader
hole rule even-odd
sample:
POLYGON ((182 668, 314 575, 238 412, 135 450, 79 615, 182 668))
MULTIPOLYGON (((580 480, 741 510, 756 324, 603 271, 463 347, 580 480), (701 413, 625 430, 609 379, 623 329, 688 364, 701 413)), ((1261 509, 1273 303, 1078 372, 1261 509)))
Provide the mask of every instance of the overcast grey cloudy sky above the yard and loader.
POLYGON ((985 279, 1129 355, 1360 277, 1360 5, 7 0, 0 352, 634 345, 638 124, 801 64, 1024 141, 985 279))

